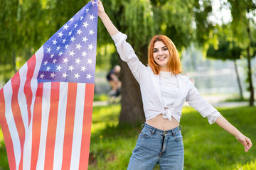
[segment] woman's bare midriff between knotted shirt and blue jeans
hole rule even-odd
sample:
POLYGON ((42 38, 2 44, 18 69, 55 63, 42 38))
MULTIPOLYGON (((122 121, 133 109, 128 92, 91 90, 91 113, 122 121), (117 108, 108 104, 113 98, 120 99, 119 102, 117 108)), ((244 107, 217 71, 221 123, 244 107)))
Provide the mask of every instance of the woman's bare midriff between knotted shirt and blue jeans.
POLYGON ((176 127, 178 127, 179 123, 178 121, 171 116, 171 120, 164 119, 163 115, 157 115, 155 118, 152 118, 151 120, 147 120, 146 124, 151 125, 154 128, 158 128, 160 130, 171 130, 176 127))

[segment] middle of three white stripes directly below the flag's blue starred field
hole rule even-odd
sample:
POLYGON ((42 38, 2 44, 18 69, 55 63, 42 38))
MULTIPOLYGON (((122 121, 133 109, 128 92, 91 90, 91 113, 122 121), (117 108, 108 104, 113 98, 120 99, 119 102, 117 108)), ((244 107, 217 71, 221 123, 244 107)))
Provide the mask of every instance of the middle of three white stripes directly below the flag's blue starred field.
POLYGON ((61 169, 63 162, 63 142, 65 133, 65 116, 68 100, 68 83, 60 83, 60 100, 58 106, 58 120, 56 128, 53 169, 61 169))

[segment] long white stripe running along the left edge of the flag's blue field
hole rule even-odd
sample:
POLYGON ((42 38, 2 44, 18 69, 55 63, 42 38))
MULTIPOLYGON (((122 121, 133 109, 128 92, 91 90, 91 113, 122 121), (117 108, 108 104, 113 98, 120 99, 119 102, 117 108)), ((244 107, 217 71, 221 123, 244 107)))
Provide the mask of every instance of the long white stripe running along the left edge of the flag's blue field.
POLYGON ((32 123, 33 123, 33 108, 36 100, 36 91, 38 89, 37 76, 43 60, 43 46, 36 52, 36 66, 34 69, 33 78, 31 79, 32 102, 31 102, 31 121, 28 127, 28 134, 25 139, 23 151, 23 169, 31 169, 31 152, 32 152, 32 123))

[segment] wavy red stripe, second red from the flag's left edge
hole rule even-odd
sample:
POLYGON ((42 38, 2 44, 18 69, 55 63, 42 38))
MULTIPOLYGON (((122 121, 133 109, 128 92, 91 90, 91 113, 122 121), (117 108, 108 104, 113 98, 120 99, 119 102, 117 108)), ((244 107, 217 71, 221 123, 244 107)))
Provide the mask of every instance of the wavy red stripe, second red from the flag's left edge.
POLYGON ((16 128, 18 131, 18 137, 20 140, 21 145, 21 160, 19 169, 22 168, 22 162, 23 162, 23 147, 25 142, 25 128, 24 123, 21 116, 21 108, 18 104, 18 89, 20 87, 21 79, 19 75, 19 71, 14 75, 14 77, 11 79, 11 87, 13 90, 13 94, 11 96, 11 111, 14 115, 14 122, 16 124, 16 128))

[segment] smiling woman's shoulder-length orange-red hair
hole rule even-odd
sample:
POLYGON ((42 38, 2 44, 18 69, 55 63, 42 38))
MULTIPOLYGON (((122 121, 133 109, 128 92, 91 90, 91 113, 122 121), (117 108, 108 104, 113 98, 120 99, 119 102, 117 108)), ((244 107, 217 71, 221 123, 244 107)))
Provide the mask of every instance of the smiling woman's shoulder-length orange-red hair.
POLYGON ((159 74, 160 72, 160 67, 158 64, 156 64, 153 57, 154 43, 156 41, 164 42, 164 45, 166 45, 169 50, 170 60, 168 62, 168 67, 171 74, 180 74, 182 69, 181 60, 178 56, 178 50, 176 49, 174 42, 172 42, 170 38, 166 37, 166 35, 155 35, 149 42, 148 63, 154 74, 159 74))

